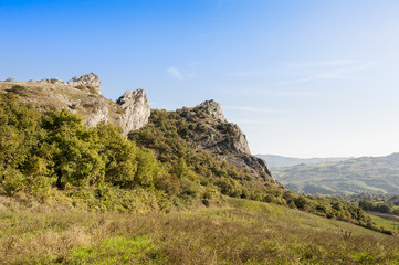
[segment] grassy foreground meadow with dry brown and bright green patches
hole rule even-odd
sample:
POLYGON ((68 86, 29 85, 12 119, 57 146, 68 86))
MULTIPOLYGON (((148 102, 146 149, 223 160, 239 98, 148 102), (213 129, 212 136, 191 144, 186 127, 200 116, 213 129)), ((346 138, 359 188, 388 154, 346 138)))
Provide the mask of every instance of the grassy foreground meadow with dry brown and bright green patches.
POLYGON ((242 199, 169 214, 0 202, 0 264, 399 264, 395 236, 242 199))

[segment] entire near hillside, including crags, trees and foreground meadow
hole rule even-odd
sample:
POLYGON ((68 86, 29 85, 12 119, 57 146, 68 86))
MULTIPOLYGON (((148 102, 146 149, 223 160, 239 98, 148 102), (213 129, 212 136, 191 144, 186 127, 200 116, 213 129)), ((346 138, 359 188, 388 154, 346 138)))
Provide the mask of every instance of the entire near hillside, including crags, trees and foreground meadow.
POLYGON ((33 84, 1 84, 0 262, 285 264, 397 255, 355 243, 346 254, 342 245, 355 231, 361 244, 366 235, 387 239, 372 231, 397 233, 346 201, 285 189, 214 100, 148 117, 144 91, 113 103, 87 86, 33 84), (65 105, 71 100, 75 108, 65 105), (115 107, 116 118, 87 123, 87 100, 115 107), (116 126, 123 120, 145 123, 126 130, 116 126), (333 245, 321 243, 330 236, 333 245))

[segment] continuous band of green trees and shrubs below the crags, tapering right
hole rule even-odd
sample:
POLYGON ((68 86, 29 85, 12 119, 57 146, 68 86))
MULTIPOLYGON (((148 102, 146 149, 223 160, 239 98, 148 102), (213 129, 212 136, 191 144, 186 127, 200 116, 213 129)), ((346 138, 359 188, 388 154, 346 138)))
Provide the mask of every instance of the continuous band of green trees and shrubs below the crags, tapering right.
POLYGON ((13 94, 1 95, 0 105, 2 194, 118 212, 209 206, 229 195, 379 230, 358 206, 295 194, 196 148, 196 121, 177 112, 154 110, 150 123, 127 140, 112 125, 87 128, 77 115, 39 112, 13 94))

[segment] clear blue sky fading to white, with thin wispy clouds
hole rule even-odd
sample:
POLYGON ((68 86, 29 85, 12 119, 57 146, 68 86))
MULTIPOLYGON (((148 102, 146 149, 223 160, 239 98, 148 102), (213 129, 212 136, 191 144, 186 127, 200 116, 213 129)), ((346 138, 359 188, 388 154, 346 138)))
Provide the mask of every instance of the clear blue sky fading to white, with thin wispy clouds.
POLYGON ((399 1, 0 1, 0 80, 222 104, 253 153, 399 151, 399 1))

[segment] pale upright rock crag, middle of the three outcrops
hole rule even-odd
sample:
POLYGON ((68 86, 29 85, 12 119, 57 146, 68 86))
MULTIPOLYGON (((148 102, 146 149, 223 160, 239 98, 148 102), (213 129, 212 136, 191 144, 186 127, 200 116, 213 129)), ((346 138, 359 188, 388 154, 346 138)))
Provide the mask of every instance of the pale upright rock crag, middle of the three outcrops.
POLYGON ((141 128, 148 123, 151 109, 147 96, 143 89, 126 91, 116 102, 124 114, 120 116, 120 127, 127 135, 132 130, 141 128))

